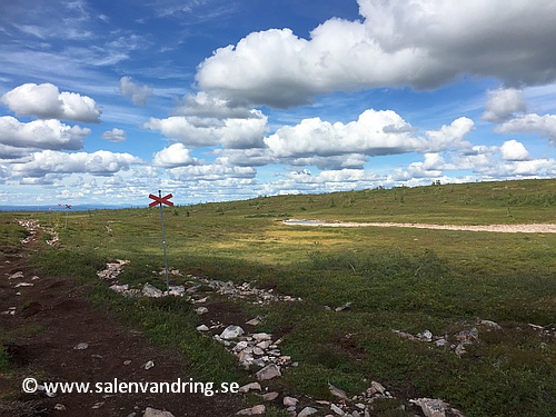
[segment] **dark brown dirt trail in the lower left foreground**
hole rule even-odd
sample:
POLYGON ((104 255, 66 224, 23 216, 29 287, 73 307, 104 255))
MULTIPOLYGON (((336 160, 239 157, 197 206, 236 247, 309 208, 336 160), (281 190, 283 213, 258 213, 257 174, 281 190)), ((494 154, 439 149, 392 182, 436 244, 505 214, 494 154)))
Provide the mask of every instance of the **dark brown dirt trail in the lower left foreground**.
POLYGON ((147 407, 175 416, 232 416, 244 408, 238 395, 202 394, 24 394, 22 381, 172 383, 185 374, 187 358, 152 346, 140 332, 122 326, 91 305, 90 289, 72 278, 44 277, 29 267, 24 249, 0 248, 0 344, 14 370, 0 374, 0 416, 142 416, 147 407), (12 312, 13 311, 13 312, 12 312), (86 342, 86 349, 76 349, 86 342), (145 368, 152 361, 155 366, 145 368), (63 406, 63 411, 58 410, 63 406), (133 414, 135 413, 135 414, 133 414))

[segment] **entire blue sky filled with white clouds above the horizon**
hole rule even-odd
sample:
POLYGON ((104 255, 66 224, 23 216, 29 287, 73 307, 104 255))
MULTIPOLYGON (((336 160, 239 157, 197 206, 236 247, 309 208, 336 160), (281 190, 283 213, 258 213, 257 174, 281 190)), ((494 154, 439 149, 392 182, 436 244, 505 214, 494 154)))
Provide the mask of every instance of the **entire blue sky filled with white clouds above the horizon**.
POLYGON ((0 0, 0 205, 556 177, 553 0, 0 0))

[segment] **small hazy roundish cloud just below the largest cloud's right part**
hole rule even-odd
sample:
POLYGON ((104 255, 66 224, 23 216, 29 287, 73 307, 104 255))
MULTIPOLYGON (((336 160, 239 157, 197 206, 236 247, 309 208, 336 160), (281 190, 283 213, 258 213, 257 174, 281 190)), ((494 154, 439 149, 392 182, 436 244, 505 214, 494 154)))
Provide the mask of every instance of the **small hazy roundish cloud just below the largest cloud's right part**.
POLYGON ((499 123, 526 111, 523 90, 514 88, 489 90, 483 119, 499 123))

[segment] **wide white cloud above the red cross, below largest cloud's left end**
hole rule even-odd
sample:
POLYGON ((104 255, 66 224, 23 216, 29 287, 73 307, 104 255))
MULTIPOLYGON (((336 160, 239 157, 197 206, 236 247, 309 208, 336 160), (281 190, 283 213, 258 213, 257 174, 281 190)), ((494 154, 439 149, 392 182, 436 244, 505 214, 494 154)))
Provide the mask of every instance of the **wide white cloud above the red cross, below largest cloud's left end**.
POLYGON ((216 119, 172 116, 167 119, 151 118, 143 128, 158 130, 186 146, 207 147, 221 145, 231 149, 247 149, 262 146, 267 131, 267 117, 251 110, 250 119, 216 119))

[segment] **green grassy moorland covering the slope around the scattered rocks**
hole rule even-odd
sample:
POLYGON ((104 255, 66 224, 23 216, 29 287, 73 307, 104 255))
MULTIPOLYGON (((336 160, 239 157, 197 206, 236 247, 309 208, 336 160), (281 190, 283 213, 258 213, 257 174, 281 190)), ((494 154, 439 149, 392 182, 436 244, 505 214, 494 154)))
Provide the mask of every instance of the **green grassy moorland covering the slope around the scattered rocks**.
MULTIPOLYGON (((528 324, 546 326, 556 317, 555 235, 331 229, 278 220, 555 224, 555 196, 556 180, 524 180, 175 207, 165 210, 168 261, 183 272, 302 297, 304 302, 241 307, 246 316, 266 317, 261 330, 286 332, 282 353, 299 361, 282 378, 292 393, 329 398, 331 383, 356 395, 378 380, 400 398, 443 398, 466 416, 552 416, 555 338, 540 337, 528 324), (349 310, 325 309, 345 302, 351 302, 349 310), (454 338, 477 318, 504 329, 479 327, 479 341, 461 358, 393 332, 429 329, 454 338)), ((63 247, 37 254, 37 267, 92 286, 98 305, 183 351, 196 375, 246 378, 219 345, 198 335, 189 305, 122 299, 96 277, 106 261, 121 258, 131 261, 122 282, 163 285, 153 274, 163 266, 158 209, 72 212, 67 228, 49 214, 20 216, 39 218, 60 234, 63 247)), ((385 403, 383 414, 406 415, 399 406, 385 403)))

